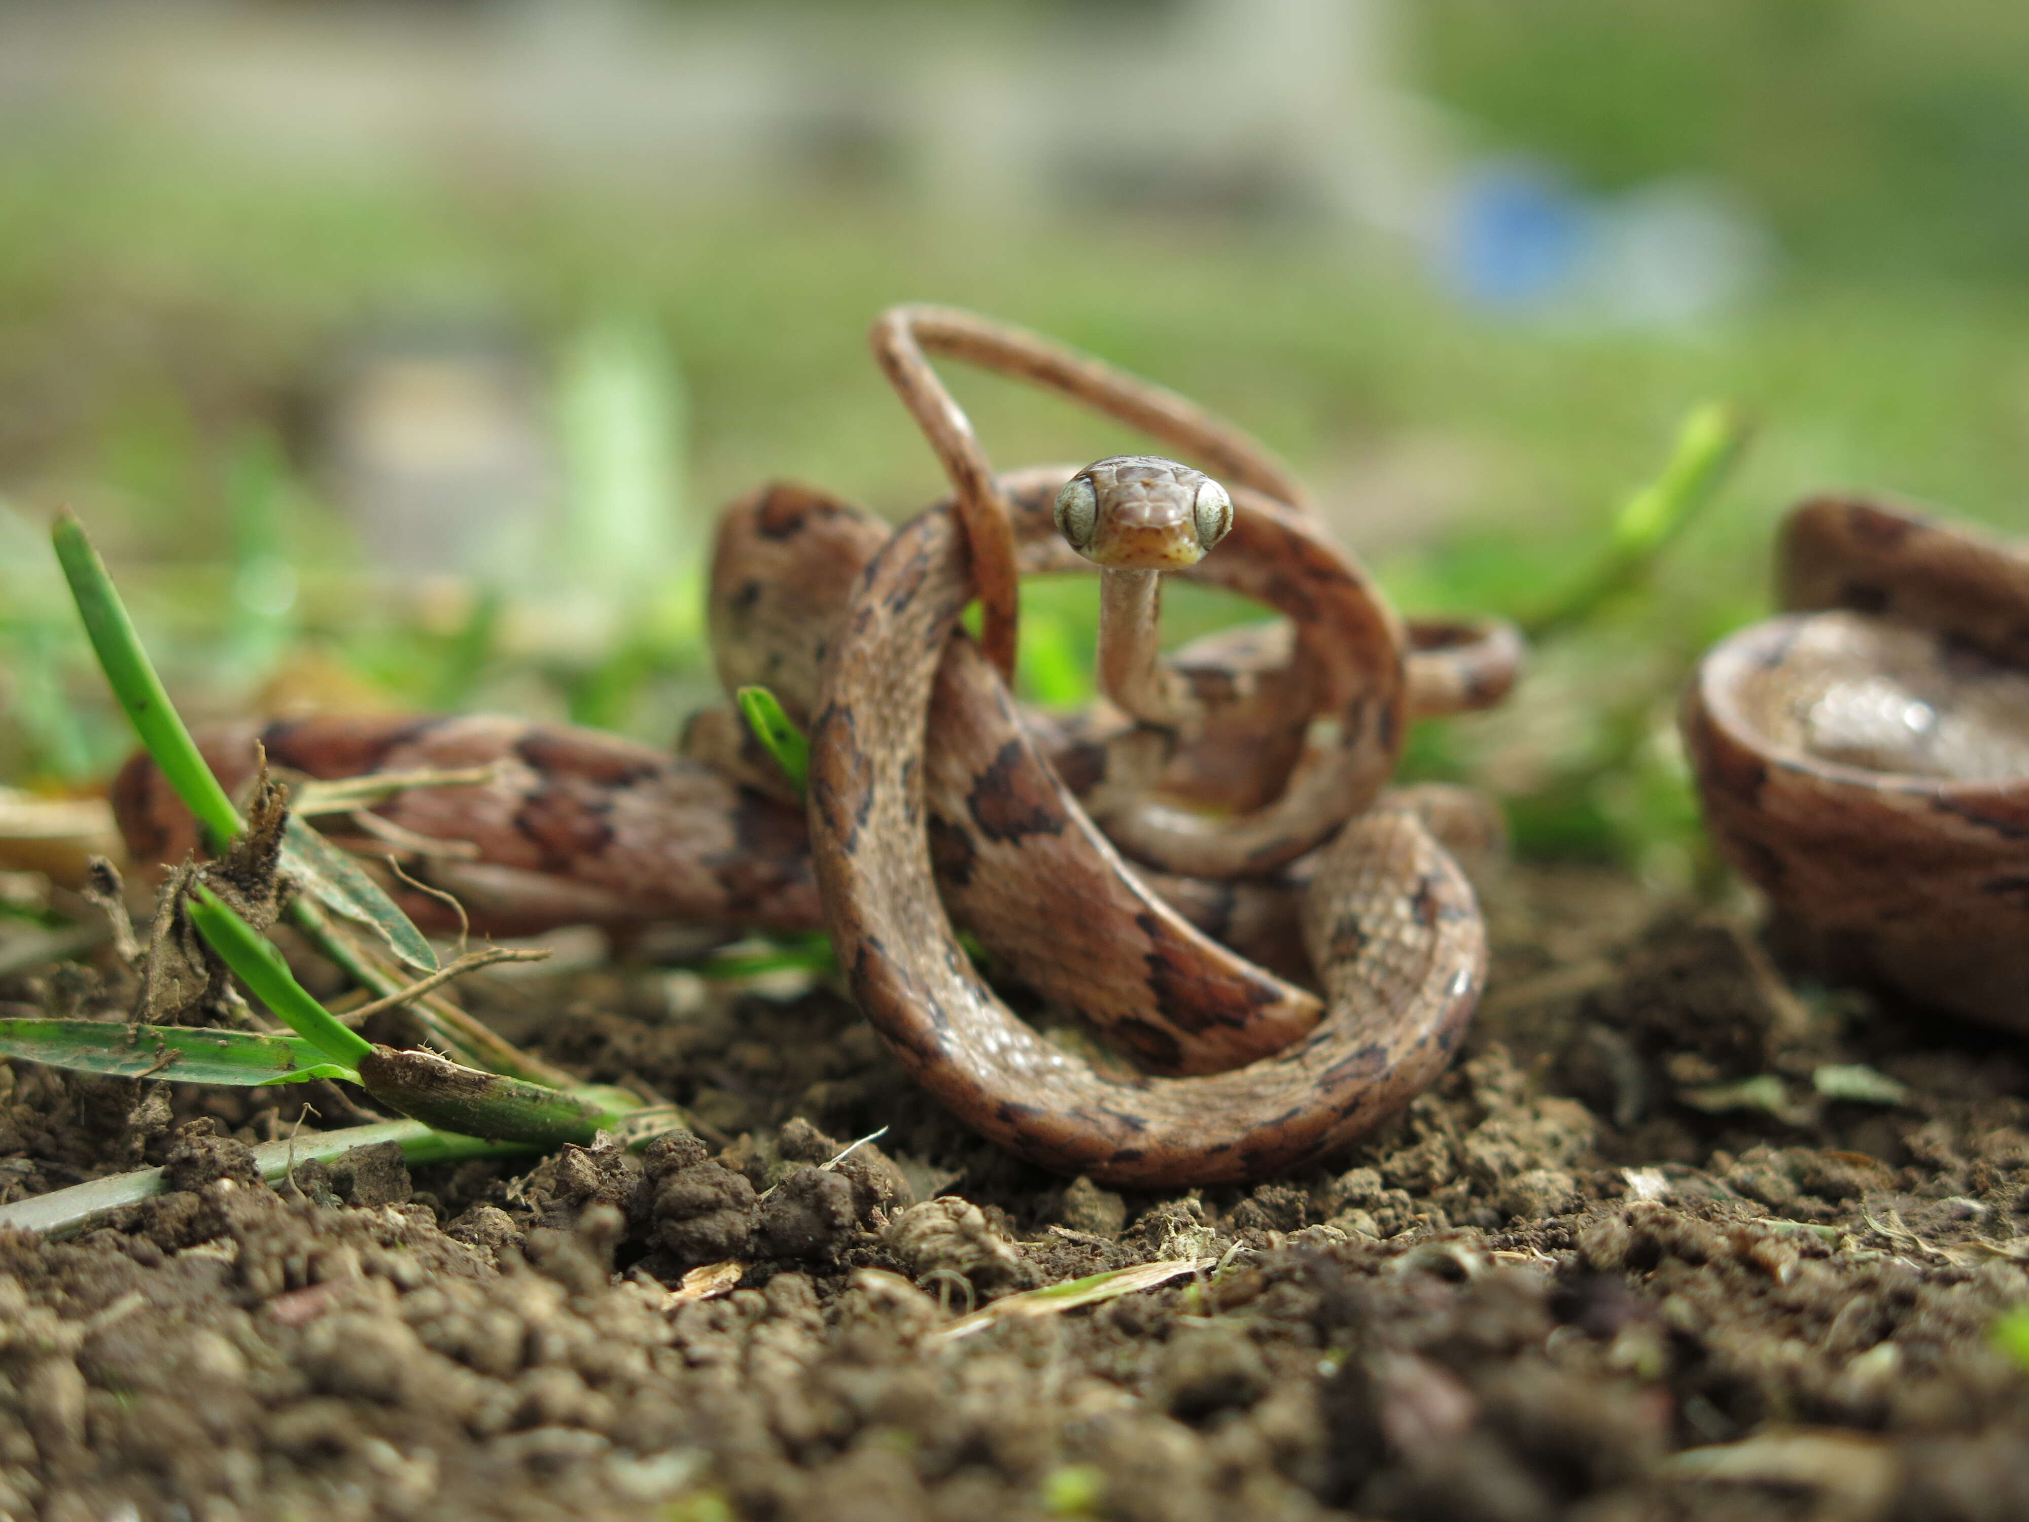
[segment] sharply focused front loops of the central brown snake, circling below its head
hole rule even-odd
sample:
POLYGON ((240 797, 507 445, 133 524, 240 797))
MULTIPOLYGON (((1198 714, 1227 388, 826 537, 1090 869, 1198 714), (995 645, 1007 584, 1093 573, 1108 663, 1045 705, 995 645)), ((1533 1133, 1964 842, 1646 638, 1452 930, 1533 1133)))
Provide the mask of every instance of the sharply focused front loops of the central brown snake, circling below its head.
MULTIPOLYGON (((1014 341, 1019 347, 1025 335, 1014 341)), ((1088 382, 1081 398, 1110 412, 1120 412, 1112 398, 1134 386, 1090 361, 1079 373, 1088 382)), ((956 406, 939 416, 964 422, 956 406)), ((948 453, 941 442, 939 451, 948 453)), ((968 455, 978 459, 976 444, 968 455)), ((1258 1177, 1372 1128, 1445 1065, 1485 972, 1485 929, 1471 887, 1422 820, 1404 806, 1359 814, 1386 781, 1406 720, 1400 623, 1305 517, 1258 493, 1232 493, 1228 548, 1183 574, 1219 580, 1292 615, 1297 647, 1325 662, 1317 698, 1331 714, 1331 735, 1323 743, 1313 735, 1284 795, 1238 824, 1155 816, 1150 832, 1134 824, 1150 814, 1124 810, 1108 826, 1128 852, 1165 864, 1179 858, 1183 842, 1183 860, 1207 875, 1264 871, 1337 832, 1303 893, 1305 944, 1325 982, 1327 1013, 1301 1039, 1230 1071, 1179 1080, 1102 1071, 1045 1041, 998 1000, 937 897, 937 820, 925 806, 933 692, 946 672, 974 660, 970 641, 954 631, 976 593, 988 599, 988 631, 1010 625, 1012 586, 992 568, 1008 558, 1004 546, 968 546, 978 501, 1004 509, 994 534, 1014 540, 1025 568, 1075 568, 1075 560, 1063 564, 1065 546, 1041 524, 1035 493, 1023 501, 1023 493, 994 489, 988 497, 958 469, 954 483, 960 505, 905 524, 854 589, 812 724, 814 862, 860 1011, 911 1074, 974 1128, 1045 1167, 1108 1183, 1258 1177), (982 562, 986 584, 974 570, 982 562), (992 599, 1002 601, 998 617, 992 599), (1339 828, 1347 816, 1357 818, 1339 828)), ((980 668, 990 676, 984 662, 980 668)), ((1019 834, 1049 838, 1088 877, 1134 885, 1134 873, 1049 767, 1039 775, 1031 769, 1019 834)), ((1088 903, 1057 901, 1047 913, 1059 925, 1104 929, 1088 903)), ((1159 972, 1150 964, 1142 976, 1157 982, 1159 972)), ((1152 992, 1167 1021, 1183 1023, 1191 990, 1152 992)))

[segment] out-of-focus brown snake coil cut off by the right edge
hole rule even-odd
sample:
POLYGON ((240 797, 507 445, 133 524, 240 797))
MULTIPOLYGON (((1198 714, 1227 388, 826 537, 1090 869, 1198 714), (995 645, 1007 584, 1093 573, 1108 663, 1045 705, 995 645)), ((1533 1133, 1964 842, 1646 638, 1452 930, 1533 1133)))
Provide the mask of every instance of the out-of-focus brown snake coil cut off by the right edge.
POLYGON ((1775 584, 1684 694, 1715 840, 1796 960, 2029 1031, 2029 546, 1814 497, 1775 584))

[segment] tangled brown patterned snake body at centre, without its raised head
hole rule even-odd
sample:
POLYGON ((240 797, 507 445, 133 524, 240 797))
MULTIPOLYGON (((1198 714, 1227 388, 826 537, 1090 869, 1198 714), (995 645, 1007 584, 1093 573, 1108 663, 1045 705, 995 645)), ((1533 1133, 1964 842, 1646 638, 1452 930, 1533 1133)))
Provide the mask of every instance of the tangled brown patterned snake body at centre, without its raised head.
MULTIPOLYGON (((968 491, 1008 530, 1017 574, 1083 564, 1053 528, 1077 475, 1067 467, 952 471, 954 499, 899 532, 793 485, 726 511, 714 660, 728 688, 767 684, 810 722, 808 820, 722 710, 690 727, 678 757, 483 714, 321 716, 258 739, 270 763, 317 777, 493 763, 487 783, 412 787, 373 814, 410 842, 459 842, 463 852, 422 867, 501 933, 582 919, 826 925, 903 1065, 1045 1167, 1163 1185, 1319 1157, 1420 1092, 1477 998, 1483 925, 1432 822, 1457 832, 1463 818, 1467 836, 1485 834, 1485 814, 1382 785, 1408 718, 1497 698, 1518 643, 1485 623, 1404 631, 1286 473, 1181 398, 1017 329, 950 313, 925 323, 921 310, 883 321, 891 345, 897 329, 927 329, 946 353, 1019 355, 1002 367, 1114 404, 1159 438, 1195 444, 1232 481, 1213 483, 1230 544, 1177 574, 1288 619, 1146 672, 1209 714, 1195 743, 1165 741, 1163 724, 1118 708, 1025 714, 990 641, 954 631, 980 591, 968 491), (1264 722, 1274 733, 1260 735, 1264 722), (1250 733, 1266 741, 1258 761, 1221 765, 1250 733), (1171 785, 1171 802, 1150 802, 1150 779, 1171 785), (1207 824, 1175 798, 1228 812, 1207 824), (978 936, 996 976, 1081 1017, 1138 1071, 1019 1021, 946 915, 978 936)), ((917 398, 935 398, 907 357, 899 367, 917 398)), ((978 455, 956 404, 946 398, 937 416, 978 455)), ((1120 495, 1110 487, 1110 505, 1120 495)), ((254 727, 207 737, 207 759, 243 775, 254 739, 254 727)), ((144 759, 116 779, 114 804, 136 860, 195 842, 144 759)))

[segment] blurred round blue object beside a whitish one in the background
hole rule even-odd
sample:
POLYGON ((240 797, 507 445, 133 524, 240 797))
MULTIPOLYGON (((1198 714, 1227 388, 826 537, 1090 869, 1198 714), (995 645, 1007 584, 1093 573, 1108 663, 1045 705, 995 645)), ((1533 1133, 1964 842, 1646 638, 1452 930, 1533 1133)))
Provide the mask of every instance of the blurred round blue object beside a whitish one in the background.
POLYGON ((1552 166, 1501 158, 1453 195, 1445 274, 1485 306, 1536 306, 1570 290, 1593 244, 1593 209, 1552 166))

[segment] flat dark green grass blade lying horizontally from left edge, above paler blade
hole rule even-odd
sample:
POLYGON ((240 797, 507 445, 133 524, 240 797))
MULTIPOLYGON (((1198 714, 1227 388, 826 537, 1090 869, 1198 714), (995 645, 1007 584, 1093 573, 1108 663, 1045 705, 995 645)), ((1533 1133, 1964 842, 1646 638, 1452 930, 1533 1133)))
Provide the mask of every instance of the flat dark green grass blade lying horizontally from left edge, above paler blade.
POLYGON ((304 1084, 357 1074, 300 1035, 203 1031, 106 1021, 0 1021, 0 1055, 73 1074, 160 1078, 172 1084, 304 1084))

